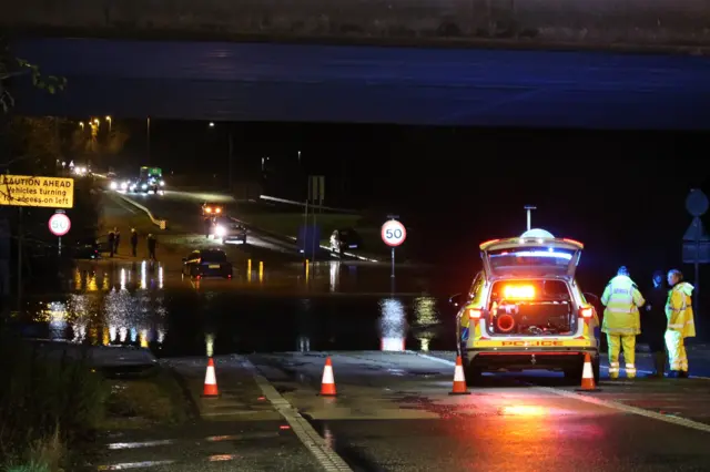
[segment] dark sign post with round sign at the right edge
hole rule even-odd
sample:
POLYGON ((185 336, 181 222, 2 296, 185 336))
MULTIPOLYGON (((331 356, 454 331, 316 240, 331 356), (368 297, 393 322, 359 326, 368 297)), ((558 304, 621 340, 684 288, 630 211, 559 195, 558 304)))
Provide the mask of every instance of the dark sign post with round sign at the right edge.
POLYGON ((696 305, 693 307, 696 311, 696 322, 700 321, 698 331, 701 335, 704 335, 704 332, 701 331, 704 328, 704 322, 700 316, 700 264, 710 263, 710 237, 706 233, 700 217, 708 212, 709 206, 710 202, 708 197, 698 188, 691 189, 686 198, 686 209, 693 218, 683 235, 682 256, 683 264, 692 264, 696 269, 692 299, 696 305))

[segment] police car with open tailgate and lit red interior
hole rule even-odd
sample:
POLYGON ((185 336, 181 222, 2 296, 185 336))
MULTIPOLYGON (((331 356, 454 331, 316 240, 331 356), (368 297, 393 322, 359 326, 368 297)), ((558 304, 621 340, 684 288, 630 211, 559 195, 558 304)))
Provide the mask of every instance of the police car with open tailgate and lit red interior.
POLYGON ((484 269, 449 301, 469 384, 485 371, 562 371, 579 382, 585 355, 599 380, 599 318, 575 279, 584 245, 544 229, 480 245, 484 269))

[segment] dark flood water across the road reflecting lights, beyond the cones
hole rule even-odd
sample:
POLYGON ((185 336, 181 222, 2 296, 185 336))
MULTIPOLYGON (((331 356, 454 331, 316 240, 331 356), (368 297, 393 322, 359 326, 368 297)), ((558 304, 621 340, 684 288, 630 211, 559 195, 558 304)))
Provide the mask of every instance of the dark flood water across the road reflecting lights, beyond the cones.
POLYGON ((63 294, 28 305, 23 332, 159 357, 454 348, 454 314, 420 290, 422 275, 403 271, 393 293, 387 267, 329 263, 308 280, 295 266, 264 273, 194 281, 145 261, 80 265, 63 294))

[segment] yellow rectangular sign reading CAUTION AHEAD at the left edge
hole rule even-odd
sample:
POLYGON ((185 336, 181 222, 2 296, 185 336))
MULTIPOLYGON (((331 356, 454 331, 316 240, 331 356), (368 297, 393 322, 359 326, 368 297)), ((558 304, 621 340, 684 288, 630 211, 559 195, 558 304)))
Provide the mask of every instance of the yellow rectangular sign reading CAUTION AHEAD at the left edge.
POLYGON ((0 205, 72 208, 74 179, 0 174, 0 205))

